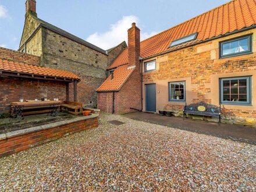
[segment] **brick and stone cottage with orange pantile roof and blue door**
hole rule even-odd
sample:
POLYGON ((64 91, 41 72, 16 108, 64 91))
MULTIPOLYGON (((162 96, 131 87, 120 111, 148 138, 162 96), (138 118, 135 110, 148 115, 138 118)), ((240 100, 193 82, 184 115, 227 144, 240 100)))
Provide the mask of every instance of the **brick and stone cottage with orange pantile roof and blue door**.
MULTIPOLYGON (((113 75, 97 90, 99 108, 113 113, 165 109, 182 116, 184 105, 206 102, 222 106, 222 122, 255 125, 255 27, 255 1, 234 0, 135 45, 128 42, 108 67, 113 75), (130 58, 134 46, 136 60, 130 58), (133 74, 131 66, 140 73, 133 74), (120 91, 125 94, 116 99, 120 91)), ((131 41, 138 36, 128 34, 131 41)))

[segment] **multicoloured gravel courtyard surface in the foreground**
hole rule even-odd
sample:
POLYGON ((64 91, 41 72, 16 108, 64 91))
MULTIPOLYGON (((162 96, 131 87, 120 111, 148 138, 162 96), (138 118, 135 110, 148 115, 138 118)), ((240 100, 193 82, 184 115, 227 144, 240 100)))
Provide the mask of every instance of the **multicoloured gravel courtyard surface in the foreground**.
POLYGON ((255 167, 255 145, 101 114, 98 128, 1 158, 0 191, 255 191, 255 167))

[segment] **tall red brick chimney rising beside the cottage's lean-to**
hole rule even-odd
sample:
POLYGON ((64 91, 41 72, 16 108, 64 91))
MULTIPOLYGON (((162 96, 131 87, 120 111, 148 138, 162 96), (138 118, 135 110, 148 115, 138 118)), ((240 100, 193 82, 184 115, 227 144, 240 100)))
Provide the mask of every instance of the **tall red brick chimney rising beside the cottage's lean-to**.
POLYGON ((136 23, 132 23, 128 30, 128 61, 130 66, 140 69, 140 29, 136 23))

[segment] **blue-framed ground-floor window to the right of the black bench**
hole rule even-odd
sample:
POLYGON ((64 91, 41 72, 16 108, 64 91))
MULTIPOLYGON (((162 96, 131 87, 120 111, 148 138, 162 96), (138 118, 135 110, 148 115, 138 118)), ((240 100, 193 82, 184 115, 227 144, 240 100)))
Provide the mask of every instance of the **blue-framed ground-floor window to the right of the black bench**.
POLYGON ((221 104, 251 105, 251 77, 223 78, 221 84, 221 104))

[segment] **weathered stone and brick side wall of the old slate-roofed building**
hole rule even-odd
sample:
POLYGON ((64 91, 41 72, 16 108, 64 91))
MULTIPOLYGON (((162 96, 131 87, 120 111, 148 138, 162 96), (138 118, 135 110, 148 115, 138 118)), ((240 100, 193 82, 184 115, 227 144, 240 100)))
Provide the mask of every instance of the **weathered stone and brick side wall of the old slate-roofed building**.
MULTIPOLYGON (((47 29, 44 29, 42 38, 44 66, 67 70, 81 77, 77 99, 83 104, 95 105, 95 90, 106 79, 108 56, 47 29)), ((73 90, 72 87, 70 90, 73 90)))

